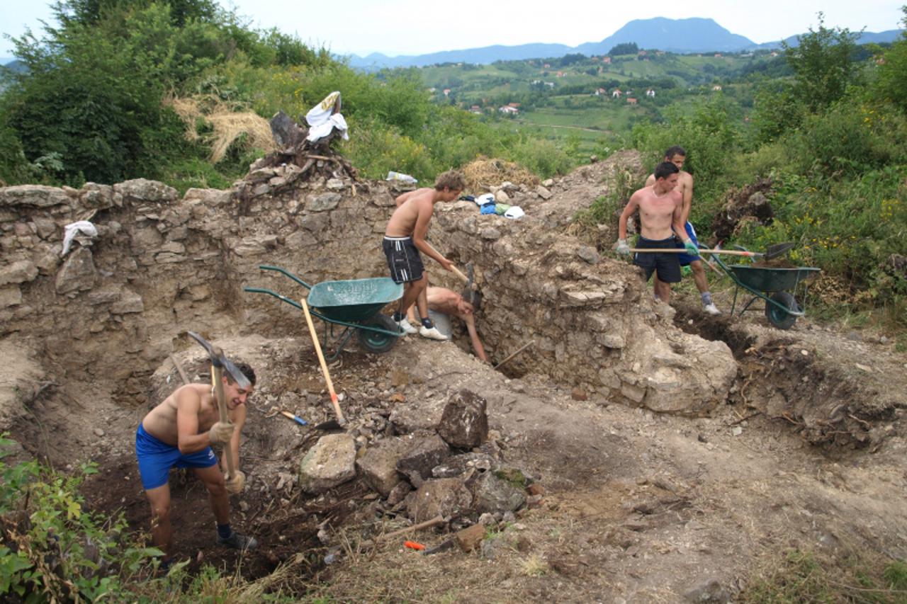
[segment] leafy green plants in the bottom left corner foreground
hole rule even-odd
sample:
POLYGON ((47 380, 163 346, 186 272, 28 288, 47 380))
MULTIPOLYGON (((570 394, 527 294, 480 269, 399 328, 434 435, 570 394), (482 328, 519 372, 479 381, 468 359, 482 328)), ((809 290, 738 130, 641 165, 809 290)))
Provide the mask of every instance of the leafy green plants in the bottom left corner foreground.
MULTIPOLYGON (((210 566, 190 575, 188 561, 156 577, 161 550, 129 531, 122 513, 86 510, 79 489, 96 472, 93 464, 73 475, 35 462, 8 464, 13 442, 6 436, 0 435, 0 600, 298 601, 282 593, 279 580, 247 582, 210 566)), ((275 575, 290 572, 281 567, 275 575)))

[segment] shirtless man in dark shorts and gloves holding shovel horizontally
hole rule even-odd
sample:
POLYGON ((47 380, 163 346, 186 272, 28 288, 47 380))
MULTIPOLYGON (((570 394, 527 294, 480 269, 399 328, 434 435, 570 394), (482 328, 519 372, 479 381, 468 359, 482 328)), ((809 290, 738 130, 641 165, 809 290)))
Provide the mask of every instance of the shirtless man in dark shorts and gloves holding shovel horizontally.
MULTIPOLYGON (((674 249, 674 233, 682 233, 684 248, 691 256, 697 256, 697 248, 687 235, 683 225, 683 198, 677 190, 678 167, 670 161, 662 161, 655 168, 655 183, 633 193, 627 206, 618 220, 619 254, 629 254, 627 245, 627 220, 639 209, 638 248, 674 249)), ((658 275, 658 281, 665 284, 656 295, 668 304, 671 295, 671 283, 680 281, 680 263, 677 253, 637 252, 633 264, 642 268, 646 280, 652 273, 658 275)))

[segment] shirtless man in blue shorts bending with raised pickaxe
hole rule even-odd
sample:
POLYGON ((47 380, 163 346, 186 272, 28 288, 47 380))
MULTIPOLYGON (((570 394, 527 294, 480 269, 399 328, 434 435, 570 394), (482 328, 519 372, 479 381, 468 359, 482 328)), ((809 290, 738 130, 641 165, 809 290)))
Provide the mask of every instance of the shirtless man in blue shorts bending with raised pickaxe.
MULTIPOLYGON (((171 468, 192 468, 208 489, 211 511, 217 520, 217 542, 237 550, 250 550, 258 545, 254 537, 234 531, 229 525, 229 493, 241 492, 246 476, 239 472, 239 433, 246 424, 246 400, 255 387, 255 372, 249 365, 237 365, 251 383, 240 388, 229 373, 221 378, 227 399, 229 422, 218 421, 218 403, 210 384, 180 386, 161 404, 151 409, 135 434, 135 453, 139 460, 141 486, 151 502, 151 537, 164 552, 161 568, 171 565, 173 529, 171 527, 171 492, 168 483, 171 468), (233 459, 237 468, 229 481, 224 481, 212 444, 225 445, 224 455, 233 459)), ((221 460, 226 468, 226 458, 221 460)))

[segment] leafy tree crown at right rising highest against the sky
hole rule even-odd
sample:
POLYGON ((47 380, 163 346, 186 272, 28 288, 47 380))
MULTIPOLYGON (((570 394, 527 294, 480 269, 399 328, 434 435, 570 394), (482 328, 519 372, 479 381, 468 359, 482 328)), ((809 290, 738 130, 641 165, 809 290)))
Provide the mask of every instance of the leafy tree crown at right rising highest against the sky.
POLYGON ((857 73, 853 52, 859 34, 840 27, 828 29, 824 15, 819 13, 818 18, 818 30, 810 28, 809 34, 799 36, 797 46, 782 43, 794 70, 794 93, 811 112, 841 99, 857 73))

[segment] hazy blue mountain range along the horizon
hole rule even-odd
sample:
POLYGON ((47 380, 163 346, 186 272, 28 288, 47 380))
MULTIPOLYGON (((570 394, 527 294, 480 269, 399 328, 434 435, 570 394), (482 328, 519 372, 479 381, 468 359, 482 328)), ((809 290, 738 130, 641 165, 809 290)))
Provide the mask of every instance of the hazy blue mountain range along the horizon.
MULTIPOLYGON (((893 42, 902 30, 892 29, 873 34, 864 32, 858 44, 893 42)), ((663 50, 669 53, 738 53, 756 49, 780 48, 781 41, 756 44, 743 35, 731 34, 712 19, 699 17, 689 19, 636 19, 621 27, 601 42, 588 42, 579 46, 564 44, 520 44, 516 46, 483 46, 442 53, 418 54, 390 57, 385 54, 369 54, 366 57, 350 55, 351 67, 377 70, 383 67, 424 67, 436 63, 488 64, 495 61, 522 61, 524 59, 557 58, 565 54, 580 53, 587 56, 607 54, 617 44, 635 42, 639 48, 663 50)), ((785 40, 795 46, 797 36, 785 40)))

